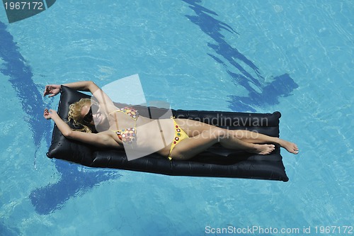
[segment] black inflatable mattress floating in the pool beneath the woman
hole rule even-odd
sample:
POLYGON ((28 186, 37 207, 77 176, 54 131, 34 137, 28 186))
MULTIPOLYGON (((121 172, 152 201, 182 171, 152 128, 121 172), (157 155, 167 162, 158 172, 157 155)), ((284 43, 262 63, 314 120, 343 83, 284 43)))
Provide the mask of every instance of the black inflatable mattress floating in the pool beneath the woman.
MULTIPOLYGON (((69 105, 81 98, 90 97, 79 91, 62 86, 58 114, 67 121, 69 105)), ((118 103, 119 106, 119 103, 118 103)), ((162 108, 135 106, 140 116, 158 112, 162 108)), ((221 111, 183 111, 172 110, 176 118, 188 118, 210 122, 222 128, 253 130, 258 133, 279 137, 280 113, 234 113, 221 111)), ((69 125, 72 125, 69 123, 69 125)), ((73 126, 72 126, 73 127, 73 126)), ((47 157, 76 162, 87 167, 126 169, 138 172, 151 172, 171 176, 217 176, 229 178, 270 179, 288 181, 280 155, 280 147, 268 155, 249 154, 225 150, 215 145, 188 161, 172 160, 159 154, 127 160, 124 150, 100 150, 82 142, 68 140, 57 129, 52 134, 52 144, 47 157)))

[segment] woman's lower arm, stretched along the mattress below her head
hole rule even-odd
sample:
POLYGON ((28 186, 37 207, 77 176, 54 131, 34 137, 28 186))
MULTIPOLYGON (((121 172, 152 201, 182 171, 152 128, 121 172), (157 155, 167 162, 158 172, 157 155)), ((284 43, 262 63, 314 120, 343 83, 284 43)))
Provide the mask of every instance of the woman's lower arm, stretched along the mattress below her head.
POLYGON ((90 145, 95 145, 97 147, 113 147, 113 148, 119 148, 120 145, 118 142, 115 142, 115 140, 110 137, 110 135, 105 134, 105 133, 84 133, 80 131, 75 131, 72 130, 72 128, 65 123, 62 118, 60 118, 57 114, 56 111, 50 109, 45 109, 44 111, 44 117, 49 120, 52 119, 54 120, 55 124, 57 125, 57 128, 60 130, 62 135, 64 137, 67 137, 72 140, 78 140, 81 142, 85 142, 90 145))

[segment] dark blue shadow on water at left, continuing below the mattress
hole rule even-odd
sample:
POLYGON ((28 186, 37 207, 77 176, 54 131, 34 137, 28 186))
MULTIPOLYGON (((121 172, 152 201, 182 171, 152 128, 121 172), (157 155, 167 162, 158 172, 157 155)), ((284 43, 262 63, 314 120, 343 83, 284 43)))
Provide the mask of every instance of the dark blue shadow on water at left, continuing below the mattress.
MULTIPOLYGON (((44 138, 47 147, 50 146, 52 125, 43 122, 45 103, 40 91, 33 82, 33 73, 18 50, 13 36, 6 30, 6 25, 0 21, 0 57, 4 62, 0 64, 0 72, 9 77, 8 82, 15 89, 22 109, 26 113, 25 120, 33 133, 33 140, 37 149, 44 138)), ((45 153, 41 157, 46 157, 45 153)), ((78 193, 84 193, 102 181, 118 178, 115 170, 98 170, 95 172, 79 171, 78 166, 53 159, 61 179, 56 184, 49 184, 30 193, 30 200, 37 213, 48 214, 62 208, 64 203, 78 193)), ((82 168, 81 168, 82 169, 82 168)))

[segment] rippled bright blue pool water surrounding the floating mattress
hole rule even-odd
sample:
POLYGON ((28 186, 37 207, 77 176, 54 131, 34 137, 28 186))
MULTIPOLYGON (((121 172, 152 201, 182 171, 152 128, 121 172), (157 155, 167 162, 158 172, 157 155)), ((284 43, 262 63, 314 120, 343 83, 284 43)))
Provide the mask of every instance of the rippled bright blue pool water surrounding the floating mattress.
POLYGON ((353 11, 349 0, 57 1, 9 24, 1 6, 0 235, 226 235, 217 228, 253 226, 263 231, 240 235, 324 235, 321 226, 343 235, 354 226, 353 11), (46 84, 104 86, 137 73, 147 100, 172 108, 280 111, 280 136, 300 148, 282 150, 290 181, 46 157, 53 123, 42 110, 59 101, 42 98, 46 84))

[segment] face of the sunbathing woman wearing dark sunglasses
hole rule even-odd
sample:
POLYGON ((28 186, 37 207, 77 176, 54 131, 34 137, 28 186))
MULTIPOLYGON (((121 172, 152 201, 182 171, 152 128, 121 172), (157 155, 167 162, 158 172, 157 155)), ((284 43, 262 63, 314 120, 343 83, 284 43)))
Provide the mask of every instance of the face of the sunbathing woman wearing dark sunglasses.
POLYGON ((105 113, 101 111, 101 107, 95 103, 83 106, 81 108, 81 116, 83 123, 96 126, 103 124, 107 119, 105 113))

